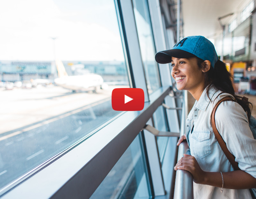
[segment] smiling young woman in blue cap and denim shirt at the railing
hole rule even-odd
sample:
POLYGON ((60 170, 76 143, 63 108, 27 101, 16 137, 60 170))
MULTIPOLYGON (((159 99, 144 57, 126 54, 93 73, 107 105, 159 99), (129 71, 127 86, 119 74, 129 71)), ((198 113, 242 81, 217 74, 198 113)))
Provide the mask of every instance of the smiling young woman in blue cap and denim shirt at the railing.
POLYGON ((191 155, 184 154, 174 167, 192 174, 194 198, 252 198, 249 188, 256 188, 256 140, 248 122, 250 103, 235 95, 231 75, 218 60, 213 44, 203 36, 189 36, 171 50, 156 53, 156 61, 171 63, 177 89, 188 90, 196 99, 186 120, 186 133, 177 144, 186 139, 191 155), (212 130, 212 110, 226 96, 236 102, 219 105, 216 127, 236 157, 241 169, 237 171, 212 130))

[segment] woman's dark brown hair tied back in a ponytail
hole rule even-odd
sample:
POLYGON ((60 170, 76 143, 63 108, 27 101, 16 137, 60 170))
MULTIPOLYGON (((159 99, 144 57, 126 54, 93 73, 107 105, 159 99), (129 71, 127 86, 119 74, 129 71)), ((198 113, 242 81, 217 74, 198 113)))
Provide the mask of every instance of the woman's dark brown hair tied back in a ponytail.
MULTIPOLYGON (((204 67, 204 60, 196 57, 197 59, 197 65, 199 68, 204 67)), ((206 88, 206 93, 208 98, 209 97, 209 90, 212 87, 217 88, 218 90, 222 91, 222 93, 229 93, 233 95, 233 97, 236 99, 237 103, 243 107, 244 111, 247 114, 248 120, 250 122, 251 112, 252 112, 252 103, 242 100, 243 97, 238 96, 235 94, 235 90, 232 84, 233 76, 228 72, 227 66, 224 62, 218 60, 214 68, 211 67, 209 71, 204 73, 205 75, 205 85, 204 88, 206 88), (209 85, 209 86, 208 86, 209 85)), ((220 93, 221 94, 221 93, 220 93)), ((211 100, 211 99, 210 99, 211 100)))

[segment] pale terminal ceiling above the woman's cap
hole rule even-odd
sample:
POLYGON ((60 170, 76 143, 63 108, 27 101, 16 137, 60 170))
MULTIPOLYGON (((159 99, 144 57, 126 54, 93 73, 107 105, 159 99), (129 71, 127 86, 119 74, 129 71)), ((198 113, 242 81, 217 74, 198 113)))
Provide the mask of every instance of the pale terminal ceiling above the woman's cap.
POLYGON ((183 36, 202 35, 216 38, 222 33, 218 18, 228 25, 251 0, 181 0, 183 36))

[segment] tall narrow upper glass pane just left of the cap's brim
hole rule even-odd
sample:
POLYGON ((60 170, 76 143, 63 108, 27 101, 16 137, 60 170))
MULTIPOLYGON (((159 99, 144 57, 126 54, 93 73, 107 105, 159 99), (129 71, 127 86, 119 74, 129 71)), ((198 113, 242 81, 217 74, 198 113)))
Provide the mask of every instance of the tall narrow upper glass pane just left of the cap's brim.
POLYGON ((148 86, 148 93, 160 87, 158 65, 155 61, 155 44, 146 0, 132 0, 140 51, 148 86))

